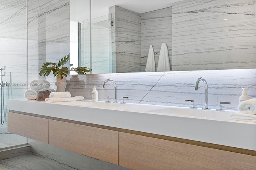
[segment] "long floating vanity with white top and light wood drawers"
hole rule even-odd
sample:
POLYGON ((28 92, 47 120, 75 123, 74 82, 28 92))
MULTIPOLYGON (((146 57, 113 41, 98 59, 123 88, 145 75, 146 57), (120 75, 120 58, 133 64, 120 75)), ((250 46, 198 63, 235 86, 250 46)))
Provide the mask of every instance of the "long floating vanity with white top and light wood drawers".
POLYGON ((255 169, 256 123, 231 111, 8 101, 8 131, 131 169, 255 169))

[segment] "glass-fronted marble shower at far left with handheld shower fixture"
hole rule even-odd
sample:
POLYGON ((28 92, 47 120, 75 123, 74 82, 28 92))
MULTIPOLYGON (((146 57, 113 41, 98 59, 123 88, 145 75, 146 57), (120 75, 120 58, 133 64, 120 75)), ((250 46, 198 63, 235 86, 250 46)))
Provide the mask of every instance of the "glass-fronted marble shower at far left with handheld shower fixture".
POLYGON ((24 98, 27 87, 26 0, 0 1, 0 151, 27 143, 8 133, 8 99, 24 98))

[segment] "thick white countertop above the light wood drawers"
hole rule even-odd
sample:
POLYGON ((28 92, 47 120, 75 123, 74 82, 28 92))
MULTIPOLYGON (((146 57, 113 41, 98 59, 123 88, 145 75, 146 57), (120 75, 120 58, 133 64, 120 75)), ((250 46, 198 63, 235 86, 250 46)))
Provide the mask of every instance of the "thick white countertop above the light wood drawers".
POLYGON ((202 110, 145 104, 106 104, 105 107, 103 102, 99 104, 88 101, 46 103, 26 99, 8 100, 8 109, 256 150, 256 123, 230 121, 227 118, 230 112, 202 112, 202 110), (166 108, 172 108, 175 113, 152 111, 166 108), (191 115, 184 115, 184 111, 189 111, 191 115), (197 115, 199 112, 210 116, 199 117, 197 115))

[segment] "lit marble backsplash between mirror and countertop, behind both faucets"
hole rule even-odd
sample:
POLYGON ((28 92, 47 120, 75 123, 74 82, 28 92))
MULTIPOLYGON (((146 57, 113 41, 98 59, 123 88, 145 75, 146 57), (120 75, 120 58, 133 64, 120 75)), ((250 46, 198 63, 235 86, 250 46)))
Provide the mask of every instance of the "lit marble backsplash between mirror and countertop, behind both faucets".
POLYGON ((164 106, 190 107, 194 100, 195 106, 202 108, 205 103, 204 84, 200 82, 198 91, 194 90, 196 80, 203 77, 208 82, 209 108, 218 109, 220 102, 231 102, 224 105, 227 110, 236 110, 242 88, 247 88, 250 98, 256 98, 256 69, 234 70, 200 70, 179 72, 140 72, 116 74, 79 75, 79 81, 70 81, 66 91, 72 96, 84 96, 91 100, 93 86, 98 86, 98 98, 105 101, 109 96, 114 100, 114 86, 111 82, 103 89, 103 82, 112 78, 117 85, 117 100, 123 96, 128 103, 154 104, 164 106))

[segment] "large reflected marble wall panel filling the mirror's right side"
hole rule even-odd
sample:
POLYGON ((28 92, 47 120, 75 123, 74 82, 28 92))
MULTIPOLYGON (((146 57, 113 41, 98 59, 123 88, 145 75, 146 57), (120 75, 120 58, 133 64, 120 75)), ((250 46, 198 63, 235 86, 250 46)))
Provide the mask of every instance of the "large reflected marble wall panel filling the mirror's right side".
POLYGON ((172 3, 172 68, 256 67, 255 0, 172 3))

